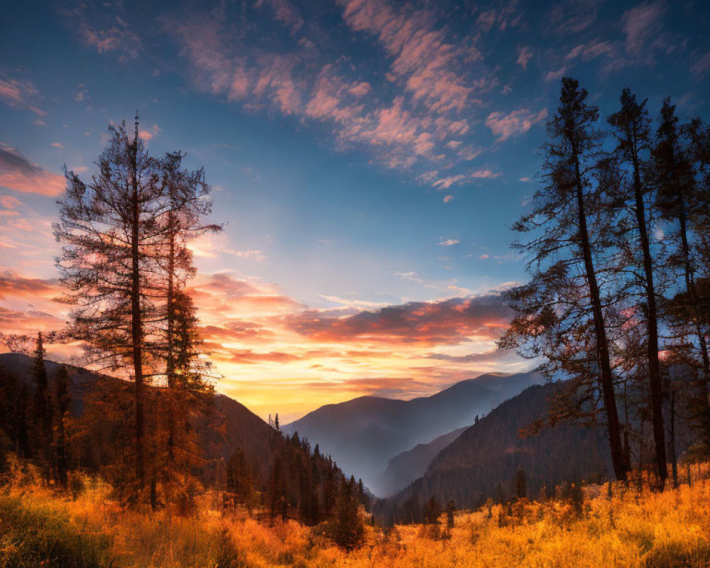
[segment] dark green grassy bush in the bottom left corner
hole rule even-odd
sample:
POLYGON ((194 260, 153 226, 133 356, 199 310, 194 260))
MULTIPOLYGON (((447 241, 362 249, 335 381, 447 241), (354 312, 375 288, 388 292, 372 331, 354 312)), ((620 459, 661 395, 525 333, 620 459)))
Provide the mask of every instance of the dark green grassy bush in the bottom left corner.
POLYGON ((72 527, 67 515, 0 497, 0 568, 93 568, 111 565, 111 542, 72 527))

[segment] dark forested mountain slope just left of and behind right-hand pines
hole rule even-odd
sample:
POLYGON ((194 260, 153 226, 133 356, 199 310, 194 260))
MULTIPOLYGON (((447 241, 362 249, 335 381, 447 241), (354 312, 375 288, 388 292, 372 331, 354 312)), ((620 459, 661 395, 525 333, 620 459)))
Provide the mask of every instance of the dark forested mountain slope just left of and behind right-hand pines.
POLYGON ((536 437, 520 430, 546 415, 548 400, 563 388, 548 383, 526 388, 466 429, 432 460, 425 474, 389 499, 376 513, 391 523, 412 520, 431 496, 439 503, 452 499, 458 508, 481 506, 487 498, 515 494, 515 474, 525 472, 528 496, 535 497, 564 482, 596 481, 610 472, 608 442, 603 427, 572 422, 545 428, 536 437))

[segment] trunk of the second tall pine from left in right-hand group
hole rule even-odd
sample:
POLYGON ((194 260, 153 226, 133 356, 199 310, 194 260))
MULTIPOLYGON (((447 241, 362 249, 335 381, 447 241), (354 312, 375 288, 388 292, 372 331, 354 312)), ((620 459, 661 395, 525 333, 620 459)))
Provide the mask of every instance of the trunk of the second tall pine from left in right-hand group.
POLYGON ((648 382, 651 391, 651 410, 653 421, 653 441, 655 443, 656 467, 661 489, 668 477, 668 464, 665 449, 665 431, 663 427, 663 391, 660 367, 658 364, 658 312, 656 308, 656 293, 653 284, 653 260, 651 258, 648 227, 646 226, 645 206, 643 204, 643 188, 639 174, 638 155, 635 141, 629 134, 631 157, 633 159, 633 189, 635 194, 636 222, 643 251, 643 272, 645 276, 645 293, 648 306, 648 382))

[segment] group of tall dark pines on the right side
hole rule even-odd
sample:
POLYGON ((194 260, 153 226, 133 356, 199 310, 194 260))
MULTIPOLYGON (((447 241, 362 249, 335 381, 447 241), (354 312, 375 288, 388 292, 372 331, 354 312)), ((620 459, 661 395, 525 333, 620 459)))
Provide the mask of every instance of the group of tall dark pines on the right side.
POLYGON ((571 378, 547 420, 604 424, 617 479, 655 470, 677 484, 679 416, 710 449, 710 129, 657 119, 624 89, 599 109, 565 77, 530 212, 514 229, 529 283, 506 293, 516 316, 501 347, 571 378))

